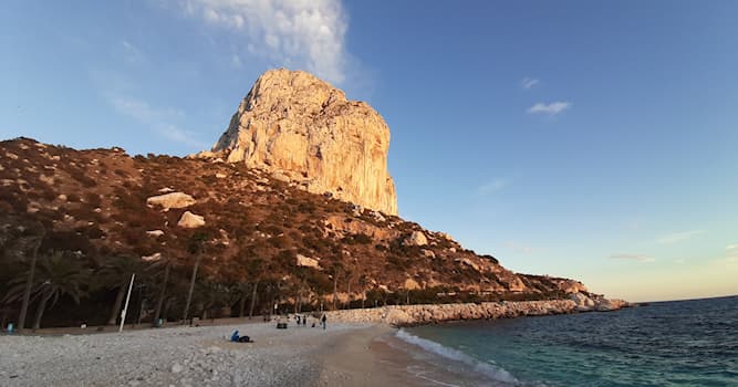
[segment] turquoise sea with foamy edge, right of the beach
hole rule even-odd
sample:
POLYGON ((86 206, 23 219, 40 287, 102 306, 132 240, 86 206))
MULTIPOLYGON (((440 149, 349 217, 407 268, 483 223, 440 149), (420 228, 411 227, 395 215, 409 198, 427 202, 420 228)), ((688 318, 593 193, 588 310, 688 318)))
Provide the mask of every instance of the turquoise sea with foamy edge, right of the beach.
MULTIPOLYGON (((738 386, 738 297, 404 328, 489 386, 738 386)), ((459 385, 468 385, 460 383, 459 385)))

